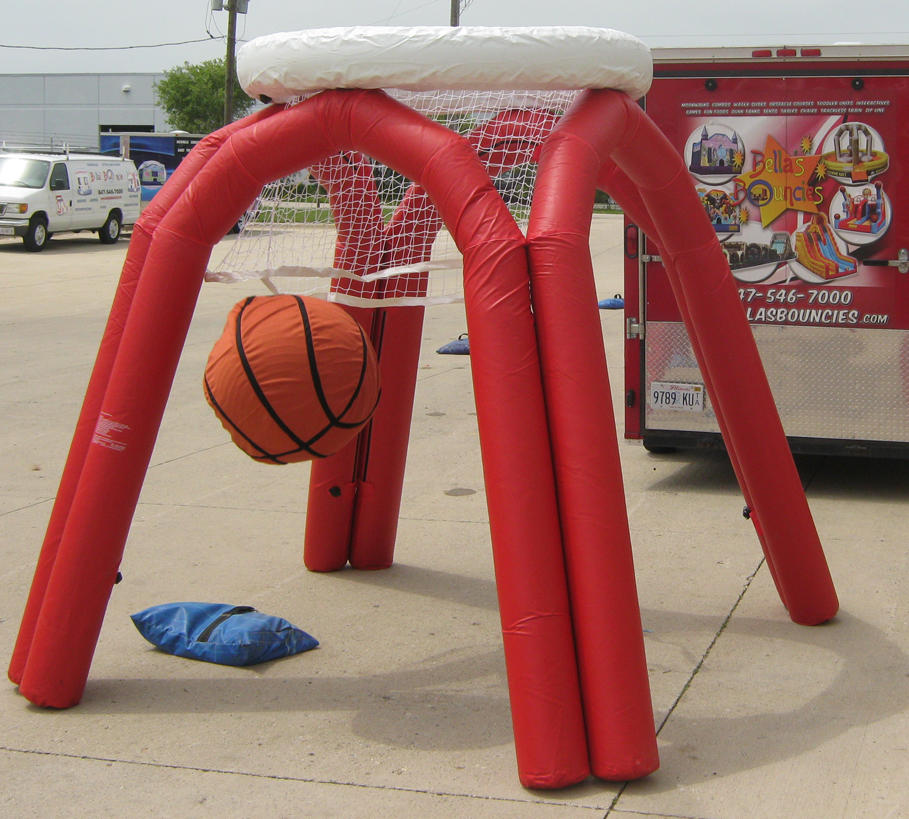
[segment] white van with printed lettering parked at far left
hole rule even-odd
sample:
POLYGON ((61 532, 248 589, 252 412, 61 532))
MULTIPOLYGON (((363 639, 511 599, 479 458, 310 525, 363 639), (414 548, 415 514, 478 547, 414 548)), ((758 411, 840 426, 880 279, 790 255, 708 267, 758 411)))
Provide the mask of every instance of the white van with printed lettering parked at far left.
POLYGON ((112 244, 139 218, 139 202, 132 160, 0 151, 0 236, 21 236, 28 250, 60 231, 94 230, 112 244))

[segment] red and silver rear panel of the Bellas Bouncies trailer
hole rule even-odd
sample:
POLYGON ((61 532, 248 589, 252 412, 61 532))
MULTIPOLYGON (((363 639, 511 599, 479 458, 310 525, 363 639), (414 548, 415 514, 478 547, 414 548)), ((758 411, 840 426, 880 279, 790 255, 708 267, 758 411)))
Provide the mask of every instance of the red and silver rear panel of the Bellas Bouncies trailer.
MULTIPOLYGON (((896 65, 657 58, 644 101, 685 159, 795 449, 909 454, 909 80, 896 65)), ((626 344, 626 437, 720 445, 709 399, 691 404, 704 380, 648 241, 626 261, 641 328, 626 344)))

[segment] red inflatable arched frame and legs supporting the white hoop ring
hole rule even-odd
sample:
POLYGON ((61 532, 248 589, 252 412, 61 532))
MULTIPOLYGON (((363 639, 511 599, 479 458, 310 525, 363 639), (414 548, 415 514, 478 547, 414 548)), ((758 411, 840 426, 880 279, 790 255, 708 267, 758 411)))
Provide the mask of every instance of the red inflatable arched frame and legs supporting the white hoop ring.
MULTIPOLYGON (((661 248, 790 617, 820 623, 838 604, 716 235, 682 159, 617 91, 582 92, 545 141, 526 237, 467 140, 382 91, 326 91, 292 108, 273 106, 199 143, 133 232, 10 679, 36 704, 79 702, 212 247, 263 184, 318 167, 339 151, 362 152, 414 180, 463 254, 521 781, 555 788, 591 773, 608 780, 644 776, 657 768, 658 756, 591 275, 588 233, 597 187, 661 248)), ((383 252, 396 247, 386 244, 383 252)), ((422 308, 362 310, 358 318, 384 322, 380 355, 415 371, 422 308)), ((404 407, 406 419, 410 378, 391 399, 398 402, 391 414, 400 416, 404 407)), ((381 415, 377 422, 381 428, 381 415)), ((383 436, 374 433, 377 438, 383 436)), ((401 438, 397 429, 377 444, 397 458, 391 472, 403 473, 406 431, 401 438)), ((308 530, 333 525, 327 488, 351 483, 352 452, 314 469, 308 530)), ((375 452, 372 458, 378 460, 375 452)), ((363 512, 361 522, 372 515, 365 528, 380 534, 350 546, 352 536, 356 541, 350 498, 368 501, 378 491, 366 481, 356 493, 342 492, 342 502, 351 504, 347 528, 321 550, 308 540, 310 568, 339 568, 348 559, 355 566, 390 562, 394 524, 377 520, 374 511, 363 512)), ((391 507, 396 514, 394 502, 391 507)))

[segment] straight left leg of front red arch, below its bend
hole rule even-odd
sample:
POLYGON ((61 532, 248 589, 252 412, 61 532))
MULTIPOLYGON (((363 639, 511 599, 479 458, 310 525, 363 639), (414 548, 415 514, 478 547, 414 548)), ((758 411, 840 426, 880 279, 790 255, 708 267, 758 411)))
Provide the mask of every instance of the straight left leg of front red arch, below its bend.
MULTIPOLYGON (((157 247, 193 259, 203 268, 211 250, 184 238, 169 248, 156 242, 148 261, 157 247)), ((82 697, 167 402, 162 382, 173 379, 201 275, 182 289, 170 281, 166 291, 157 288, 157 297, 150 292, 154 281, 143 276, 137 288, 142 309, 130 311, 124 328, 35 625, 19 690, 37 705, 67 708, 82 697), (155 356, 149 355, 151 347, 156 348, 155 356), (142 423, 130 423, 136 415, 142 423)))

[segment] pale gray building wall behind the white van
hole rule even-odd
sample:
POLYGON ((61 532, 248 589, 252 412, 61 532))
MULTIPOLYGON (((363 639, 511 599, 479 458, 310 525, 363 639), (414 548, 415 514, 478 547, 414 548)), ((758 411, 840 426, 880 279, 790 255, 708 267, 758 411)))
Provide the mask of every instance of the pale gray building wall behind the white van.
POLYGON ((0 140, 98 147, 102 126, 169 131, 155 104, 163 74, 0 74, 0 140))

